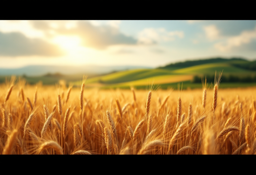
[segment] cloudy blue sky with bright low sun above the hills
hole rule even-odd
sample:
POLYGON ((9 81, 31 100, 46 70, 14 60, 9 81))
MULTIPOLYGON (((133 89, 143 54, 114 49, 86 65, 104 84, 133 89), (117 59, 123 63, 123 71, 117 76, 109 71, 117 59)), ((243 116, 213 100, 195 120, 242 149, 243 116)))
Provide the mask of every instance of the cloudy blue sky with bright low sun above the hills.
POLYGON ((256 20, 0 20, 0 68, 256 60, 256 20))

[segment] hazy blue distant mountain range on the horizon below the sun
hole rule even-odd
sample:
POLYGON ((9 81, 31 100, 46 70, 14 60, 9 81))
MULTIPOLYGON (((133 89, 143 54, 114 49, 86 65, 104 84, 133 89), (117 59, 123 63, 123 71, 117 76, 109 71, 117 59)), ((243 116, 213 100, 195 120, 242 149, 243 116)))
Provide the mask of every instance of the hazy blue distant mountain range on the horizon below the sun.
POLYGON ((97 65, 83 65, 83 66, 47 66, 47 65, 31 65, 21 68, 0 68, 0 75, 26 75, 26 76, 42 76, 45 74, 106 74, 113 71, 151 68, 144 66, 97 66, 97 65))

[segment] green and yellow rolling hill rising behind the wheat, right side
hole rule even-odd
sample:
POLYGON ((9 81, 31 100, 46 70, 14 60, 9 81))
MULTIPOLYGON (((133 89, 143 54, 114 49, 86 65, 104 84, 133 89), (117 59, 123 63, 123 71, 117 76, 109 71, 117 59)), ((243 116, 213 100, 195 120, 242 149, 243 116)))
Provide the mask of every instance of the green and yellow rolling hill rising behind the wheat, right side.
MULTIPOLYGON (((215 71, 222 71, 223 76, 252 76, 256 75, 255 70, 250 70, 237 65, 249 65, 250 61, 234 59, 209 59, 187 61, 159 67, 157 69, 137 69, 112 73, 109 75, 89 78, 89 86, 101 87, 129 87, 142 86, 154 81, 157 85, 176 85, 178 82, 191 84, 193 77, 214 75, 215 71)), ((201 86, 201 85, 200 85, 201 86)), ((236 85, 233 85, 236 86, 236 85)))

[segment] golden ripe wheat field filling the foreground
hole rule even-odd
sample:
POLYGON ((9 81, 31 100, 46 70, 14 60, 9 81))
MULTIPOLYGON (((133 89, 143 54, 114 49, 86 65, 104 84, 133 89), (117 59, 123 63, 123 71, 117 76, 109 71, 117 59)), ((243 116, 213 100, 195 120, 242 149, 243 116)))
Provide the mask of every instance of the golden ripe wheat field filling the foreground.
POLYGON ((256 151, 256 88, 218 89, 219 81, 185 91, 13 82, 0 86, 0 154, 256 151))

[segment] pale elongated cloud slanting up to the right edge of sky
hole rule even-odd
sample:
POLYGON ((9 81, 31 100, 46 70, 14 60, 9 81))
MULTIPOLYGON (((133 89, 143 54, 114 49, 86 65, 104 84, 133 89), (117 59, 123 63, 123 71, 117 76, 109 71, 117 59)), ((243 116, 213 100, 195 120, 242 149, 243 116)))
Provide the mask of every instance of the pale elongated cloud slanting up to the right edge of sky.
POLYGON ((250 43, 253 39, 256 39, 256 27, 251 31, 243 31, 238 36, 229 37, 226 39, 226 41, 216 43, 214 46, 216 49, 225 52, 231 50, 234 47, 239 47, 243 44, 250 43))

